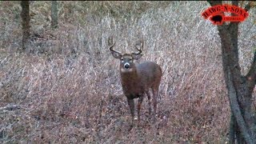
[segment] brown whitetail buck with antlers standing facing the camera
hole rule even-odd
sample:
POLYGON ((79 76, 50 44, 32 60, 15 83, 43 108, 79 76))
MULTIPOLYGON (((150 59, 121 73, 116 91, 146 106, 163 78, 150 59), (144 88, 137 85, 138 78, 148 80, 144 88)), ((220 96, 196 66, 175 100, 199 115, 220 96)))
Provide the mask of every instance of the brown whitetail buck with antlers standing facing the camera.
POLYGON ((154 121, 157 110, 157 98, 158 89, 162 77, 162 70, 158 64, 154 62, 142 62, 135 64, 134 60, 138 60, 142 57, 143 42, 140 43, 140 49, 136 45, 138 50, 136 53, 121 54, 120 52, 113 50, 115 42, 113 38, 109 38, 110 51, 114 58, 120 59, 120 75, 122 82, 122 90, 126 95, 128 104, 130 106, 130 113, 132 117, 131 126, 134 126, 134 98, 138 98, 138 124, 140 122, 140 110, 144 95, 147 95, 149 102, 149 114, 151 116, 151 102, 150 102, 150 89, 153 93, 153 105, 154 105, 154 121))

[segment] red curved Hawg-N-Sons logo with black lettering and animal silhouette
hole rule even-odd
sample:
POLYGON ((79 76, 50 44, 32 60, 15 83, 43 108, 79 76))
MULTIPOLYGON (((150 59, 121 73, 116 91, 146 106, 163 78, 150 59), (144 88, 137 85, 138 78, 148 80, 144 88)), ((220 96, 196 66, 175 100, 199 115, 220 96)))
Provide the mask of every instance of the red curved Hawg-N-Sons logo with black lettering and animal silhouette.
POLYGON ((238 6, 231 5, 217 5, 211 6, 202 13, 205 19, 210 18, 214 25, 222 25, 223 22, 243 22, 249 14, 238 6), (224 12, 233 14, 232 16, 225 16, 224 12))

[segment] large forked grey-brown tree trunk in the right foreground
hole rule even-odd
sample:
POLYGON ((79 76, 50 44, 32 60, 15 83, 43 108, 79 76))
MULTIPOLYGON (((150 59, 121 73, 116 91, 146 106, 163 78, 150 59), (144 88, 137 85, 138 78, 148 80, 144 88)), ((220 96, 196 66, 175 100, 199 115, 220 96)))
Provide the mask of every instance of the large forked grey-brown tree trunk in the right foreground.
MULTIPOLYGON (((232 2, 238 6, 238 2, 232 2)), ((210 1, 211 6, 222 5, 221 1, 210 1)), ((246 7, 250 10, 250 6, 246 7)), ((255 143, 255 119, 251 113, 252 92, 256 80, 256 51, 246 76, 241 74, 238 63, 238 24, 230 22, 218 26, 222 43, 222 66, 226 88, 230 99, 230 143, 255 143)))

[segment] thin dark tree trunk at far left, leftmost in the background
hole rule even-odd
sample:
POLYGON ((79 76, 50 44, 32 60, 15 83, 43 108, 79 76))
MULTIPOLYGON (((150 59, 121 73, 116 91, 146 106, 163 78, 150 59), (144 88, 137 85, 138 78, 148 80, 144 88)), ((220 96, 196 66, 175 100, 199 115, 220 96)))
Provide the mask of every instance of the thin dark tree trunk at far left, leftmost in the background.
POLYGON ((30 2, 22 1, 22 50, 26 49, 30 38, 30 2))

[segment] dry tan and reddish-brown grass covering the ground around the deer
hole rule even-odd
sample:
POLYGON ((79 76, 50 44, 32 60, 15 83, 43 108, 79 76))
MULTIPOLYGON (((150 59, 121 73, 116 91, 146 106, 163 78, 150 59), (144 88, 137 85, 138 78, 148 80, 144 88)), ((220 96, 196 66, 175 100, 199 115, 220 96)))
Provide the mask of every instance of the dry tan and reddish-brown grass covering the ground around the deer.
MULTIPOLYGON (((1 5, 0 142, 227 141, 230 108, 220 38, 201 17, 207 2, 60 2, 58 30, 50 30, 50 2, 33 2, 32 34, 47 40, 31 42, 22 54, 21 7, 1 5), (110 35, 123 52, 144 38, 140 62, 162 66, 154 125, 147 122, 145 98, 142 127, 128 131, 130 110, 118 60, 107 49, 110 35)), ((256 44, 254 19, 240 26, 243 73, 256 44)))

